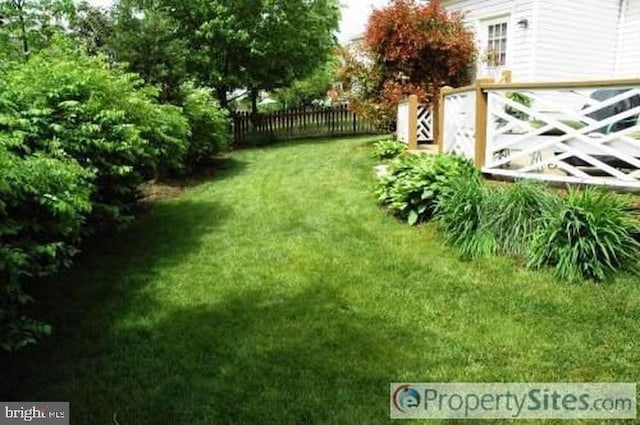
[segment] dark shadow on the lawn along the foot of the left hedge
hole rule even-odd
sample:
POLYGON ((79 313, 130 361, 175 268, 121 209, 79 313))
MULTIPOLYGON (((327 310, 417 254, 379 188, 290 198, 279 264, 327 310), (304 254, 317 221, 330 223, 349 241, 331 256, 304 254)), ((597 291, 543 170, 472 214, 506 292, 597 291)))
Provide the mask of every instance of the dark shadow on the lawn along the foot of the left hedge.
POLYGON ((24 391, 39 387, 40 376, 64 379, 64 368, 56 368, 68 359, 83 361, 108 351, 113 321, 152 308, 148 285, 197 252, 201 237, 228 215, 215 201, 157 203, 124 231, 90 241, 71 269, 31 282, 27 292, 36 302, 29 314, 50 323, 54 333, 16 355, 0 353, 0 399, 21 399, 24 391), (54 372, 40 373, 41 367, 54 372))

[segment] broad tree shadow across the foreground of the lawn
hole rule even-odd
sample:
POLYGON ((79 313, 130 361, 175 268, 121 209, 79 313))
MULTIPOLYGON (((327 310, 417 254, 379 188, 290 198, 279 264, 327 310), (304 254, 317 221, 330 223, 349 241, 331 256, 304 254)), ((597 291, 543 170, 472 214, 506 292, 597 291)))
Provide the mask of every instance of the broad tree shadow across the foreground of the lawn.
POLYGON ((76 377, 57 393, 72 401, 74 423, 388 422, 402 359, 388 335, 407 333, 321 287, 112 324, 112 350, 76 359, 87 364, 71 366, 76 377))

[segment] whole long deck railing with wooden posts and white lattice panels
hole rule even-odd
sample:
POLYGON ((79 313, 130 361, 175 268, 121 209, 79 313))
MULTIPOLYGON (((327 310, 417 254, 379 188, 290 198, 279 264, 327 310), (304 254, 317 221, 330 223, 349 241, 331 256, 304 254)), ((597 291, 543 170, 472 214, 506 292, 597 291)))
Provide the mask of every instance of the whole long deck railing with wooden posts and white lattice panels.
POLYGON ((488 176, 640 189, 640 80, 441 92, 435 143, 488 176))

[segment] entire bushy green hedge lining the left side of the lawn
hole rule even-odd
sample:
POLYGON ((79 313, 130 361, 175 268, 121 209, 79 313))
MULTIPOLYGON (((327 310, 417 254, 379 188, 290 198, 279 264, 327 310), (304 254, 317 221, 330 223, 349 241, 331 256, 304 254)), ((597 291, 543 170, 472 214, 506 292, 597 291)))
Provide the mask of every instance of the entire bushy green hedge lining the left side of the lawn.
POLYGON ((0 344, 48 326, 26 317, 25 280, 68 267, 83 236, 132 218, 145 179, 183 174, 228 143, 203 89, 183 108, 101 57, 58 43, 0 80, 0 344))

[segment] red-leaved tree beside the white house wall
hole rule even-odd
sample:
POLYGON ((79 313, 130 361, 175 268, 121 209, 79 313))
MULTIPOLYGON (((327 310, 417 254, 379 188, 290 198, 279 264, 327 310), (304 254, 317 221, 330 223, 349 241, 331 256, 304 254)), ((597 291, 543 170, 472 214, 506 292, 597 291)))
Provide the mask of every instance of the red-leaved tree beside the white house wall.
POLYGON ((362 74, 374 79, 366 82, 368 90, 350 93, 351 103, 379 123, 392 121, 406 95, 430 104, 441 87, 469 84, 475 53, 473 33, 460 13, 445 10, 439 0, 392 0, 369 19, 356 54, 367 59, 344 61, 351 71, 343 74, 351 80, 362 74))

